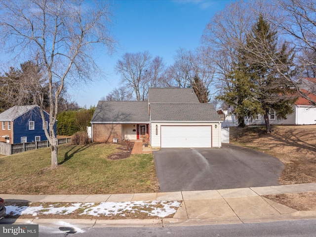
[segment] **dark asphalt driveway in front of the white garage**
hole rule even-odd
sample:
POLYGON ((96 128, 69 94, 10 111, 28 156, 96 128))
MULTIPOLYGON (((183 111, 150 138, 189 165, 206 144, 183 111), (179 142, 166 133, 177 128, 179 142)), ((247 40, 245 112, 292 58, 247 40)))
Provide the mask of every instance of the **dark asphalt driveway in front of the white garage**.
POLYGON ((222 148, 162 148, 154 152, 159 192, 279 185, 277 158, 235 145, 222 148))

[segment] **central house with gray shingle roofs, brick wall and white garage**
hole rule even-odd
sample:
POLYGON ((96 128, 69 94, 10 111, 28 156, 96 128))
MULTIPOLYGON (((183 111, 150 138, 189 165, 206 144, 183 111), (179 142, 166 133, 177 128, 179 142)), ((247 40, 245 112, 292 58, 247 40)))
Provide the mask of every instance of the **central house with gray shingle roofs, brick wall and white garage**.
POLYGON ((99 101, 92 141, 147 139, 152 147, 221 147, 221 119, 191 88, 149 88, 147 101, 99 101))

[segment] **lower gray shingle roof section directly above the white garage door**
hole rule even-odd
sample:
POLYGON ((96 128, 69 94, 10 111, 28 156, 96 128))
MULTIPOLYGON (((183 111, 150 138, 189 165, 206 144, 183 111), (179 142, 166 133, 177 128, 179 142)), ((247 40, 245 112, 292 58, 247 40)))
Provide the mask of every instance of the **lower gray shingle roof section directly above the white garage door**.
POLYGON ((220 121, 212 104, 151 104, 152 121, 220 121))

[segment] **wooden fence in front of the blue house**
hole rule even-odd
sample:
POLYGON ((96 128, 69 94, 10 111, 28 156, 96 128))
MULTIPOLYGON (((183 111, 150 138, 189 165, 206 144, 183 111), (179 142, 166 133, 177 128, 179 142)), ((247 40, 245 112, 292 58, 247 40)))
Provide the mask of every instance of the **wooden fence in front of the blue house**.
MULTIPOLYGON (((71 138, 62 138, 58 139, 58 145, 69 143, 71 138)), ((17 154, 20 152, 27 152, 35 149, 40 149, 44 147, 50 147, 50 143, 48 141, 41 142, 25 142, 25 143, 17 143, 17 144, 8 144, 4 142, 0 142, 0 155, 9 156, 13 154, 17 154)))

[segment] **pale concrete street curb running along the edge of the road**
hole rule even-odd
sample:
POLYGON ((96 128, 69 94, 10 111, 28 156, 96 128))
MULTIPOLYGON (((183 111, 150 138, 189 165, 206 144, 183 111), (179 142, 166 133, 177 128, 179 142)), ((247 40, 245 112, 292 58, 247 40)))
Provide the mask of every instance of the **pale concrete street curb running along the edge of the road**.
POLYGON ((200 219, 30 219, 30 218, 5 218, 0 224, 37 224, 44 226, 67 226, 76 225, 80 228, 104 228, 104 227, 177 227, 177 226, 203 226, 203 225, 231 225, 252 224, 279 221, 311 220, 316 219, 316 211, 296 211, 282 215, 255 215, 200 219))

